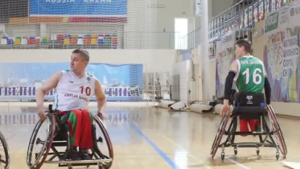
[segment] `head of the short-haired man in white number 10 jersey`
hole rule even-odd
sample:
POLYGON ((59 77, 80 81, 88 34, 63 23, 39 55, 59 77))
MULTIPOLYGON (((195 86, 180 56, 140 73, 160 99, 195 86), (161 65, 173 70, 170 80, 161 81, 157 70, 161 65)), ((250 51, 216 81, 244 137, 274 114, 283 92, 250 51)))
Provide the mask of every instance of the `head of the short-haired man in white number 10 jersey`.
POLYGON ((71 55, 71 70, 83 72, 90 60, 90 55, 86 50, 75 49, 71 55))

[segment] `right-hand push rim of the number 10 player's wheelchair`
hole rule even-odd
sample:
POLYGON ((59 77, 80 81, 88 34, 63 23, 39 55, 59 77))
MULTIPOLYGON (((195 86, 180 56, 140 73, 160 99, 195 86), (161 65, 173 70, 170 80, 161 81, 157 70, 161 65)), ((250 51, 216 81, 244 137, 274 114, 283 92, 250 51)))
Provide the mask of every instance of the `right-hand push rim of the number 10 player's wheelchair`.
MULTIPOLYGON (((111 142, 111 138, 103 124, 103 122, 101 121, 101 119, 96 116, 96 115, 93 115, 93 119, 94 121, 97 123, 97 125, 100 127, 104 137, 105 137, 105 140, 106 140, 106 143, 107 143, 107 146, 108 146, 108 150, 109 150, 109 158, 112 159, 112 162, 113 162, 113 149, 112 149, 112 142, 111 142)), ((99 155, 99 154, 98 154, 99 155)), ((109 169, 111 166, 112 166, 112 162, 108 162, 106 163, 105 165, 103 165, 102 167, 104 169, 109 169)))

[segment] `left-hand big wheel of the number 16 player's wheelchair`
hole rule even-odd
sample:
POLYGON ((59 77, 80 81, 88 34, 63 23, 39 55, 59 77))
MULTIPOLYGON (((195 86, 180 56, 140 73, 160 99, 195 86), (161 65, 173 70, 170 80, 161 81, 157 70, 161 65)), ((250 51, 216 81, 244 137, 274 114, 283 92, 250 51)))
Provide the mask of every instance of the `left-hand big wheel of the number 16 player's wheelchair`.
POLYGON ((215 140, 213 142, 213 145, 212 145, 212 148, 211 148, 211 151, 210 151, 210 154, 212 155, 212 158, 215 157, 215 155, 217 153, 217 150, 220 146, 220 142, 221 142, 222 137, 225 133, 225 128, 227 126, 227 123, 228 123, 228 120, 229 120, 229 117, 230 117, 230 113, 232 112, 232 109, 233 109, 233 107, 230 106, 229 111, 226 112, 225 116, 221 120, 221 124, 218 128, 217 134, 215 136, 215 140))

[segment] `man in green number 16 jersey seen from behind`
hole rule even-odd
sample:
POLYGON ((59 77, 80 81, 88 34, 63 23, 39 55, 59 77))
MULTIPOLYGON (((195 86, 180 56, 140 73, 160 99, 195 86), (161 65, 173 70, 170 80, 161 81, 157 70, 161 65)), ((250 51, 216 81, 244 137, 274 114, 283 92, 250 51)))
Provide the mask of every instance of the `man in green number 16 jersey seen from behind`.
MULTIPOLYGON (((266 104, 270 104, 271 87, 267 79, 263 61, 250 54, 251 44, 246 40, 238 40, 235 43, 235 55, 237 59, 231 63, 230 71, 225 82, 224 107, 221 116, 229 110, 229 95, 233 80, 236 81, 237 92, 264 93, 266 104)), ((255 131, 256 120, 240 119, 240 130, 249 131, 248 125, 255 131)))

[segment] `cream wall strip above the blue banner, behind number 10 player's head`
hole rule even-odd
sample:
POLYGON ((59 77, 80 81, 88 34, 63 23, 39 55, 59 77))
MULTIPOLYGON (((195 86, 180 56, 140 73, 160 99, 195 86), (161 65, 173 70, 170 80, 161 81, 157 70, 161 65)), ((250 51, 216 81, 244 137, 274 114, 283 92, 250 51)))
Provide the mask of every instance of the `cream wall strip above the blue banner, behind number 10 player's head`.
MULTIPOLYGON (((141 63, 145 65, 146 72, 171 71, 175 50, 105 50, 88 49, 90 63, 129 64, 141 63)), ((20 49, 1 50, 0 62, 69 62, 72 50, 49 50, 49 49, 20 49)))

